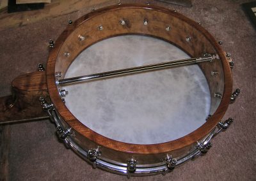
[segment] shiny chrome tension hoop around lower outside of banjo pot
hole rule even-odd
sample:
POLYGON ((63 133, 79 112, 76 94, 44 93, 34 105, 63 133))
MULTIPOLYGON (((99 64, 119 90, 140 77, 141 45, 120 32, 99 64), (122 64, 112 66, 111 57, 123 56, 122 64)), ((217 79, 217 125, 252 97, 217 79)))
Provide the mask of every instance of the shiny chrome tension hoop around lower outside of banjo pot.
MULTIPOLYGON (((58 116, 57 110, 52 110, 48 114, 49 114, 49 117, 51 118, 51 120, 56 123, 56 127, 58 127, 58 126, 62 127, 63 120, 61 120, 61 118, 58 116)), ((68 129, 68 128, 64 128, 64 129, 68 129)), ((211 131, 211 133, 209 133, 207 136, 205 136, 205 138, 202 141, 200 141, 200 143, 202 143, 202 147, 204 147, 204 145, 205 145, 205 148, 209 149, 211 147, 211 143, 209 143, 209 141, 213 138, 213 136, 215 136, 217 134, 218 131, 220 131, 220 129, 217 126, 211 131)), ((65 140, 63 140, 63 141, 64 141, 64 143, 67 143, 68 147, 72 148, 72 150, 77 152, 83 158, 87 158, 89 160, 89 154, 91 155, 92 158, 95 155, 95 154, 93 154, 93 150, 88 152, 88 150, 85 150, 83 147, 81 147, 79 145, 79 143, 77 143, 77 141, 74 140, 74 138, 72 138, 72 134, 70 136, 67 136, 67 138, 65 138, 65 140)), ((186 154, 182 157, 179 157, 179 159, 177 159, 177 163, 175 164, 175 166, 179 166, 180 164, 183 164, 186 161, 189 161, 190 159, 193 159, 199 155, 200 155, 200 150, 197 147, 195 147, 192 150, 190 150, 188 152, 188 154, 186 154)), ((93 160, 95 160, 95 159, 93 159, 93 160)), ((127 164, 127 163, 121 163, 118 161, 109 161, 108 159, 105 159, 104 157, 100 156, 100 157, 97 157, 97 159, 92 164, 99 168, 113 171, 115 173, 125 174, 128 177, 131 174, 132 175, 140 175, 140 176, 154 174, 154 173, 155 174, 157 174, 157 173, 164 174, 168 170, 168 168, 166 167, 166 163, 163 161, 159 161, 159 163, 154 163, 154 164, 141 164, 140 165, 140 164, 136 163, 134 158, 129 160, 128 164, 127 164), (133 164, 129 164, 129 163, 131 163, 131 161, 133 162, 133 164), (129 170, 131 169, 131 171, 134 171, 134 168, 136 168, 136 170, 133 173, 129 172, 128 166, 129 166, 129 170)))

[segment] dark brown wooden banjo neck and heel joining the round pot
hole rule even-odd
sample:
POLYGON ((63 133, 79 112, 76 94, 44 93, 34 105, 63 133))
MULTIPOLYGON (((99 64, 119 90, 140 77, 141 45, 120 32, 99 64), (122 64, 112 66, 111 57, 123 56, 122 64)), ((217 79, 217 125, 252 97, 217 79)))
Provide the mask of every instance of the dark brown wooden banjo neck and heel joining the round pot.
POLYGON ((45 71, 18 76, 12 92, 12 96, 0 98, 0 124, 48 118, 39 101, 40 96, 48 96, 45 71))

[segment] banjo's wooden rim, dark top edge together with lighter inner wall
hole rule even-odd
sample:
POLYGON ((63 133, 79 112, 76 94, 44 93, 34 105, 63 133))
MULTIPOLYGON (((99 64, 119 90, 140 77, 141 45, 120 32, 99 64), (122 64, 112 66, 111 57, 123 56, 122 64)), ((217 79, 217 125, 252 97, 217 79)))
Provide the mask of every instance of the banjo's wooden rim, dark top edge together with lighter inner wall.
POLYGON ((52 103, 54 103, 56 110, 65 120, 67 126, 72 127, 77 132, 77 142, 81 143, 81 145, 84 144, 84 147, 100 145, 102 150, 109 152, 108 155, 112 155, 112 157, 115 157, 116 153, 118 153, 120 155, 123 154, 126 158, 129 155, 136 155, 144 156, 147 159, 148 155, 158 157, 171 153, 174 156, 178 156, 180 153, 188 152, 189 148, 194 147, 196 141, 204 138, 221 120, 228 108, 232 93, 232 75, 225 52, 223 52, 211 34, 201 25, 180 13, 152 5, 124 4, 109 6, 88 13, 72 25, 68 25, 67 29, 56 40, 55 47, 50 52, 46 77, 52 103), (148 25, 143 25, 145 18, 148 19, 148 25), (125 20, 125 25, 119 24, 121 19, 125 20), (104 27, 103 31, 97 29, 99 25, 104 27), (165 30, 168 25, 170 25, 171 31, 165 30), (154 145, 134 145, 111 140, 95 133, 81 124, 69 112, 58 94, 54 73, 61 71, 65 75, 68 66, 84 48, 90 47, 97 41, 124 34, 144 34, 161 38, 182 48, 192 57, 200 57, 203 52, 219 55, 220 61, 200 64, 200 68, 202 68, 209 82, 211 94, 213 95, 214 92, 223 93, 222 99, 217 101, 216 99, 218 98, 212 96, 212 116, 204 125, 177 140, 154 145), (79 41, 79 35, 85 36, 86 40, 79 41), (186 41, 187 36, 191 36, 191 41, 186 41), (65 52, 70 52, 70 56, 65 57, 65 52), (220 71, 220 75, 214 80, 211 76, 211 71, 220 71), (81 136, 81 140, 78 138, 79 136, 81 136))

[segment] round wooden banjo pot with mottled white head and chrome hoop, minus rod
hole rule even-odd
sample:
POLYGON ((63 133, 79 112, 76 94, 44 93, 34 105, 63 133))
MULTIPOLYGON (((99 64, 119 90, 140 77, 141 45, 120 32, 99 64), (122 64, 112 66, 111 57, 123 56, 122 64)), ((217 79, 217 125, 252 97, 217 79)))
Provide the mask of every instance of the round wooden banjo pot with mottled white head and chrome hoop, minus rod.
POLYGON ((131 175, 162 173, 206 152, 232 94, 228 59, 211 34, 177 11, 147 4, 109 6, 68 25, 51 48, 46 76, 51 118, 65 143, 100 168, 131 175), (215 59, 58 83, 204 55, 215 59))

